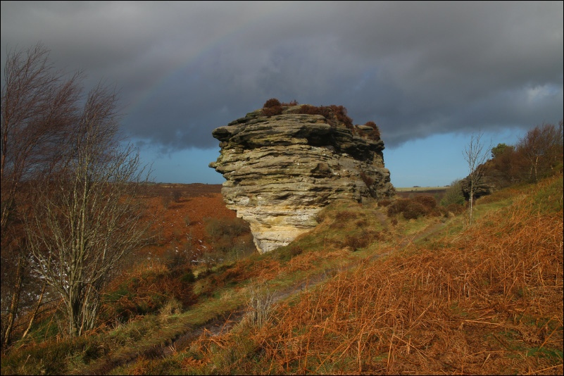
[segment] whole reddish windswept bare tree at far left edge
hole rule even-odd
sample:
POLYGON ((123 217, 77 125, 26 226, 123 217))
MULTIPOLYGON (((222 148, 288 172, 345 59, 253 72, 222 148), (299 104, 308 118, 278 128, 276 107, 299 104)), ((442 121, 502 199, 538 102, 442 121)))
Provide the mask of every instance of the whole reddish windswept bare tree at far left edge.
POLYGON ((65 134, 75 123, 81 76, 79 72, 65 78, 55 70, 42 44, 8 51, 7 56, 0 120, 2 346, 11 341, 21 306, 32 304, 21 301, 23 289, 34 284, 21 221, 33 192, 23 185, 37 171, 54 165, 65 134))

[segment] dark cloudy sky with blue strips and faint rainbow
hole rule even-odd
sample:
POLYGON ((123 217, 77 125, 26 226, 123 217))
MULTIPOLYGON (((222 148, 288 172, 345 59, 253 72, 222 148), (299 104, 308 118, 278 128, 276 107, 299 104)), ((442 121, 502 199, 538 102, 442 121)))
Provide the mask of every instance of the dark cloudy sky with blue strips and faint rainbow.
POLYGON ((472 134, 515 145, 563 119, 563 4, 1 1, 2 77, 41 42, 86 89, 115 85, 156 182, 223 183, 212 130, 277 98, 374 121, 394 186, 444 186, 472 134))

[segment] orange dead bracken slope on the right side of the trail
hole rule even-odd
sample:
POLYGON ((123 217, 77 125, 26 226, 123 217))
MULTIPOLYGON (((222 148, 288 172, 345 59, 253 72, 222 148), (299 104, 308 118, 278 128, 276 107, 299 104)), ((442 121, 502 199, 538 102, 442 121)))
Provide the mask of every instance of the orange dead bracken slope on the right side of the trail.
POLYGON ((220 374, 561 374, 562 177, 537 188, 513 192, 510 206, 492 206, 468 230, 339 272, 263 325, 202 336, 160 364, 220 374))

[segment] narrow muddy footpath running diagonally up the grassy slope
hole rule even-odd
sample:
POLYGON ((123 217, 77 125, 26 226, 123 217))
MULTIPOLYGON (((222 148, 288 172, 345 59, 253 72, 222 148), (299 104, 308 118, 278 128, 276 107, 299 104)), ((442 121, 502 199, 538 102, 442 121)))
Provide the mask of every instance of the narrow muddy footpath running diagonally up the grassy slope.
MULTIPOLYGON (((301 294, 303 292, 308 292, 311 289, 314 289, 322 282, 325 282, 329 278, 331 278, 337 272, 343 272, 346 270, 351 270, 353 268, 358 267, 361 263, 366 261, 375 261, 378 258, 382 258, 384 256, 388 256, 391 252, 399 251, 401 249, 405 249, 410 244, 418 242, 420 239, 424 239, 426 237, 430 237, 432 235, 438 234, 444 227, 446 223, 434 223, 424 230, 418 232, 417 234, 413 234, 411 236, 403 236, 399 237, 397 241, 397 246, 394 251, 390 251, 387 253, 377 253, 368 258, 363 258, 362 260, 358 260, 348 265, 340 265, 338 268, 332 268, 330 270, 324 270, 317 275, 313 275, 308 277, 307 280, 302 280, 299 283, 294 284, 287 289, 282 289, 276 292, 272 292, 270 298, 272 299, 272 303, 277 303, 278 301, 283 301, 284 299, 289 299, 292 296, 296 296, 297 294, 301 294)), ((212 320, 209 320, 203 325, 199 327, 186 327, 186 330, 183 334, 179 334, 177 337, 170 338, 164 343, 151 346, 149 348, 139 349, 129 351, 127 353, 120 353, 119 356, 115 356, 113 358, 107 358, 104 361, 96 362, 95 365, 88 367, 86 369, 77 370, 73 372, 74 375, 107 375, 109 372, 118 368, 123 365, 127 365, 137 361, 138 358, 144 359, 155 359, 155 358, 166 358, 167 356, 172 355, 177 351, 183 351, 187 349, 192 341, 199 338, 202 334, 206 334, 206 336, 213 337, 219 334, 224 334, 229 332, 235 325, 241 322, 245 315, 251 314, 251 309, 249 306, 239 306, 238 308, 234 309, 233 311, 229 311, 220 315, 212 320)))

